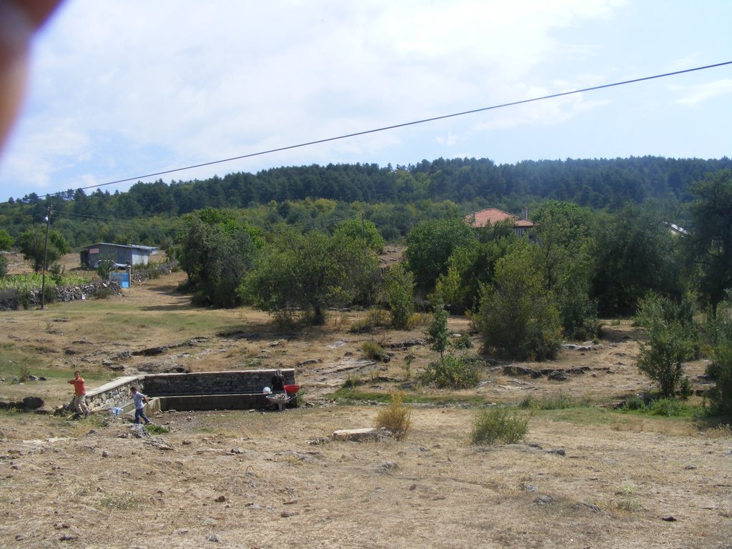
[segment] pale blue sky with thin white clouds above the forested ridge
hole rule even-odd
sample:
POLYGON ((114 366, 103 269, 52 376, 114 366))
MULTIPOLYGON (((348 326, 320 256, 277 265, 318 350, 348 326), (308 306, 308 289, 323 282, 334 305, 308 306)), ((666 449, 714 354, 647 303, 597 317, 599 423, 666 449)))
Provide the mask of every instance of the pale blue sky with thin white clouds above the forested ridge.
POLYGON ((729 157, 732 65, 257 153, 732 61, 731 26, 729 0, 66 0, 0 200, 285 165, 729 157))

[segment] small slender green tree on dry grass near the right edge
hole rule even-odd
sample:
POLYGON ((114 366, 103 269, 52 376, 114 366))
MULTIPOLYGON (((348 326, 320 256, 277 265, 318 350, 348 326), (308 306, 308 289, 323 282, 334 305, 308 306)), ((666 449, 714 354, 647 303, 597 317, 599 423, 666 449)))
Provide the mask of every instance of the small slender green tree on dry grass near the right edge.
POLYGON ((651 295, 643 299, 636 316, 649 338, 640 343, 638 370, 649 376, 666 398, 676 396, 684 376, 684 362, 694 356, 692 321, 683 321, 683 312, 683 304, 651 295))

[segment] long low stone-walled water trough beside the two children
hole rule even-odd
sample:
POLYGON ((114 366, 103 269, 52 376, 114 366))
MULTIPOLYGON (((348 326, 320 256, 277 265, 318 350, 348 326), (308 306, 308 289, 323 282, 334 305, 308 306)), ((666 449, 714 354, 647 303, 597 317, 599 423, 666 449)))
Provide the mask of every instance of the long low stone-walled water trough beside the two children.
MULTIPOLYGON (((285 384, 295 384, 295 370, 281 369, 285 384)), ((116 378, 86 392, 91 411, 127 414, 134 411, 130 387, 149 398, 145 413, 155 411, 249 410, 272 408, 263 391, 275 370, 158 373, 116 378)), ((295 408, 297 397, 288 400, 295 408)))

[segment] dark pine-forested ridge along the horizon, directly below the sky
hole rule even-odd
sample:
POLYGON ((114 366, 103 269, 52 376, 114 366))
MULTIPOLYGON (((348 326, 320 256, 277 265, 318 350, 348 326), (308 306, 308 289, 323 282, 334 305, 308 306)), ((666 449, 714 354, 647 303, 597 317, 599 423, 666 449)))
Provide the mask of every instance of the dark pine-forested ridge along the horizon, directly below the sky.
MULTIPOLYGON (((54 218, 70 242, 86 239, 139 239, 157 242, 157 234, 134 229, 110 230, 109 223, 152 216, 177 217, 206 206, 251 208, 325 198, 338 203, 427 204, 449 201, 467 213, 488 206, 517 212, 546 199, 571 201, 591 209, 618 209, 629 201, 656 198, 671 203, 690 199, 690 184, 706 173, 732 168, 718 160, 630 157, 614 160, 541 160, 496 165, 488 159, 442 158, 417 165, 329 164, 272 168, 258 173, 230 173, 203 181, 138 182, 126 193, 99 189, 86 194, 68 190, 49 201, 54 218), (99 220, 97 223, 91 220, 99 220), (77 222, 91 222, 83 228, 77 222), (107 225, 103 223, 108 221, 107 225), (97 232, 102 234, 94 236, 97 232), (105 232, 106 231, 106 232, 105 232)), ((43 219, 48 202, 35 193, 0 203, 0 228, 18 236, 43 219)), ((280 208, 281 210, 281 208, 280 208)), ((285 212, 278 215, 288 217, 285 212)), ((368 214, 367 214, 368 215, 368 214)), ((376 219, 374 219, 376 221, 376 219)), ((392 227, 392 236, 408 229, 392 227)))

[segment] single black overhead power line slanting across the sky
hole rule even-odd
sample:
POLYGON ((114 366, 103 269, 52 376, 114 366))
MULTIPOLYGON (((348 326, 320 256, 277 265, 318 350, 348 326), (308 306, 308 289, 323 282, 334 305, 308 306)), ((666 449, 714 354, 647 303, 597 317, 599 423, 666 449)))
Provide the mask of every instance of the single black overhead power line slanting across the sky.
MULTIPOLYGON (((432 118, 414 120, 413 122, 403 122, 401 124, 393 124, 391 126, 378 127, 378 128, 374 128, 373 130, 364 130, 361 132, 346 133, 344 135, 337 135, 337 136, 331 137, 331 138, 316 139, 315 141, 306 141, 305 143, 297 143, 296 145, 278 147, 277 149, 268 149, 266 151, 251 152, 249 154, 241 154, 240 156, 237 156, 237 157, 224 158, 222 160, 212 160, 211 162, 193 164, 193 165, 189 165, 189 166, 184 166, 182 168, 173 168, 172 170, 157 171, 155 173, 146 173, 145 175, 142 175, 142 176, 127 177, 125 179, 116 179, 116 181, 100 183, 100 184, 96 184, 96 185, 89 185, 89 187, 79 187, 79 188, 81 190, 88 190, 88 189, 95 189, 98 187, 106 187, 107 185, 126 183, 126 182, 135 181, 135 180, 139 180, 139 179, 147 179, 149 177, 162 176, 167 173, 175 173, 177 171, 192 170, 193 168, 202 168, 203 166, 222 164, 225 162, 231 162, 233 160, 242 160, 243 158, 257 157, 257 156, 262 156, 264 154, 272 154, 274 152, 282 152, 282 151, 288 151, 291 149, 299 149, 300 147, 318 145, 319 143, 328 143, 329 141, 338 141, 340 139, 348 139, 348 138, 352 138, 352 137, 357 137, 359 135, 367 135, 367 134, 376 133, 376 132, 385 132, 386 130, 395 130, 400 127, 414 126, 417 124, 426 124, 427 122, 435 122, 436 120, 455 118, 456 116, 466 116, 467 114, 482 113, 484 111, 493 111, 498 108, 512 107, 514 105, 523 105, 524 103, 544 101, 544 100, 554 99, 556 97, 564 97, 566 95, 572 95, 572 94, 580 94, 585 91, 596 91, 599 89, 612 88, 614 86, 625 86, 626 84, 649 81, 649 80, 654 80, 656 78, 666 78, 668 76, 681 75, 686 72, 695 72, 695 71, 699 71, 699 70, 713 69, 715 67, 723 67, 728 64, 732 64, 732 61, 725 61, 723 63, 705 65, 703 67, 694 67, 692 69, 676 70, 674 72, 664 72, 663 74, 660 74, 660 75, 644 76, 643 78, 633 78, 632 80, 624 80, 621 82, 602 84, 602 86, 591 86, 590 88, 575 89, 572 91, 562 91, 561 93, 558 93, 558 94, 542 95, 541 97, 532 97, 531 99, 524 99, 524 100, 519 100, 519 101, 501 103, 500 105, 491 105, 490 107, 474 108, 474 109, 471 109, 470 111, 462 111, 460 113, 444 114, 442 116, 433 116, 432 118)), ((59 193, 53 193, 53 194, 59 194, 59 193)))

